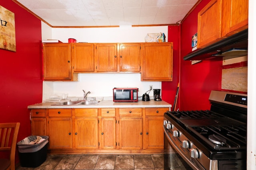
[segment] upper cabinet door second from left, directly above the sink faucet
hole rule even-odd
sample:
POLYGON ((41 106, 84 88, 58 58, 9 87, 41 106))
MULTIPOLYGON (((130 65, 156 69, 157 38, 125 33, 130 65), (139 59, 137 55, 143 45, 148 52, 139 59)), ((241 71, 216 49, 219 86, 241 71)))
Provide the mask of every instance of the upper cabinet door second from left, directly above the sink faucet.
POLYGON ((74 72, 94 72, 94 45, 92 43, 73 44, 74 72))

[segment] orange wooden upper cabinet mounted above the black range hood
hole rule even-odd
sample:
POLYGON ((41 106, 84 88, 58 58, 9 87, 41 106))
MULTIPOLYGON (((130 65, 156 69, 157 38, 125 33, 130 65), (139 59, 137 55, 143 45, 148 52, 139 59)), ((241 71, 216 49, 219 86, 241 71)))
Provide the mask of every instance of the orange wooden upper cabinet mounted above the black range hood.
POLYGON ((197 47, 206 47, 246 28, 248 0, 211 0, 198 13, 197 47))

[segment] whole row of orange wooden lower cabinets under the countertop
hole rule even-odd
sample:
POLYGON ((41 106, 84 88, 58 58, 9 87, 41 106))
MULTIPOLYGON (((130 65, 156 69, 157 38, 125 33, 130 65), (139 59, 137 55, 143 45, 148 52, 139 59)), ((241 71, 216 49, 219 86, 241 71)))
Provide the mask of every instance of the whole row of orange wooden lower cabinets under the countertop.
POLYGON ((51 153, 161 153, 164 108, 32 109, 32 135, 51 153))

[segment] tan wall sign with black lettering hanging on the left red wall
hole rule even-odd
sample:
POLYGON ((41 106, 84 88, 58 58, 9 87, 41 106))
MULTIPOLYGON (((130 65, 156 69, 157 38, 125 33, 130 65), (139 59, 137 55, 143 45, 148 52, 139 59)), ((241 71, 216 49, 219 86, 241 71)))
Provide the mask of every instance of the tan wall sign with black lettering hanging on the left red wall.
POLYGON ((0 49, 16 51, 14 13, 0 6, 0 49))

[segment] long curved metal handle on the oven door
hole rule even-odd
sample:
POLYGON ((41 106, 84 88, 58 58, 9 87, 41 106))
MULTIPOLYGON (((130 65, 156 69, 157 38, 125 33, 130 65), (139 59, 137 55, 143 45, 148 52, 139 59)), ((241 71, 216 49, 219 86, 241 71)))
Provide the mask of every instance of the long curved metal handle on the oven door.
POLYGON ((169 133, 166 129, 166 127, 163 125, 164 127, 164 133, 166 135, 166 138, 168 139, 169 143, 172 145, 172 147, 176 150, 176 152, 178 152, 178 154, 191 166, 191 168, 193 168, 194 170, 205 170, 205 168, 196 160, 194 159, 193 161, 188 159, 186 157, 186 155, 179 149, 178 146, 175 145, 175 143, 172 141, 171 137, 169 136, 169 133))

